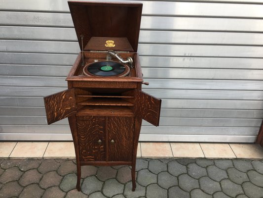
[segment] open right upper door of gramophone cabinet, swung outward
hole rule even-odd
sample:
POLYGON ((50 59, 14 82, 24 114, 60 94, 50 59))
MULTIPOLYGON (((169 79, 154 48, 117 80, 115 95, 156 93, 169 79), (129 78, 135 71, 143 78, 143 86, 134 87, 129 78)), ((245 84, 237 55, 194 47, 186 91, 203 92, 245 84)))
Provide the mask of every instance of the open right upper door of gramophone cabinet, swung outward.
POLYGON ((142 91, 135 91, 135 111, 137 116, 141 116, 154 126, 159 126, 161 99, 156 99, 142 91))

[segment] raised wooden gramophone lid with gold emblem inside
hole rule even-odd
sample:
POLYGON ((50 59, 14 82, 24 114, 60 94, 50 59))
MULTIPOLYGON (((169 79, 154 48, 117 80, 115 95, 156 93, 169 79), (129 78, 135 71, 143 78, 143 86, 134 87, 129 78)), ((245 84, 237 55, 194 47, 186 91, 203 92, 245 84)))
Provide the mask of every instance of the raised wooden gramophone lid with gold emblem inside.
POLYGON ((142 3, 68 3, 81 50, 137 51, 142 3))

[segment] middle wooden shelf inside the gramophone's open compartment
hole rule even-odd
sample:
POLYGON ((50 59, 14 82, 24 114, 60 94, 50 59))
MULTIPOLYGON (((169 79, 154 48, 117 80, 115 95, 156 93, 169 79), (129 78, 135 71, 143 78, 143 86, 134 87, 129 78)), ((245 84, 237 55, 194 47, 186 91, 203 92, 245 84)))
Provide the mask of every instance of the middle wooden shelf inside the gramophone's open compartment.
POLYGON ((96 99, 87 99, 77 104, 82 105, 109 105, 109 106, 134 106, 133 103, 128 102, 124 99, 119 98, 96 98, 96 99))

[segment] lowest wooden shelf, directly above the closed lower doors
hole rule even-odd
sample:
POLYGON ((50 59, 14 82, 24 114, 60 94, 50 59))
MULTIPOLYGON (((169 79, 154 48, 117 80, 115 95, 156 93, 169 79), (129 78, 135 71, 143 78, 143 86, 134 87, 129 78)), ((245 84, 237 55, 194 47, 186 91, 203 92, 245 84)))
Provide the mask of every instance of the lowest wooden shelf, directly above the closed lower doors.
POLYGON ((134 116, 127 106, 84 106, 76 116, 134 116))

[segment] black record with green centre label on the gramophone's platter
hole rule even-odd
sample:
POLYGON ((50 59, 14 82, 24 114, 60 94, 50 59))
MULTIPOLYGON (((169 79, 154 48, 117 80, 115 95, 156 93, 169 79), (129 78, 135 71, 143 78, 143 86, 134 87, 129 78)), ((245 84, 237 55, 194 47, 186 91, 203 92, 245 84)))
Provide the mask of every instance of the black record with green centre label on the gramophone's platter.
POLYGON ((99 61, 86 65, 83 73, 86 76, 127 76, 130 68, 115 61, 99 61))

